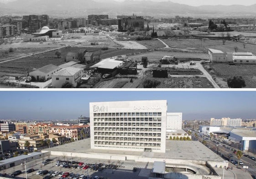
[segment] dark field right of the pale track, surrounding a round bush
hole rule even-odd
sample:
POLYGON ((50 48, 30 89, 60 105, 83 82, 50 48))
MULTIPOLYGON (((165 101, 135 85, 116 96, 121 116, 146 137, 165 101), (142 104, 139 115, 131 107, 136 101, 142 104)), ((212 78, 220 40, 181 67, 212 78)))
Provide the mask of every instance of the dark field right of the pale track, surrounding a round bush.
POLYGON ((220 87, 227 87, 227 79, 241 76, 246 82, 246 88, 256 88, 256 65, 208 64, 204 66, 220 87), (225 85, 223 85, 225 84, 225 85))

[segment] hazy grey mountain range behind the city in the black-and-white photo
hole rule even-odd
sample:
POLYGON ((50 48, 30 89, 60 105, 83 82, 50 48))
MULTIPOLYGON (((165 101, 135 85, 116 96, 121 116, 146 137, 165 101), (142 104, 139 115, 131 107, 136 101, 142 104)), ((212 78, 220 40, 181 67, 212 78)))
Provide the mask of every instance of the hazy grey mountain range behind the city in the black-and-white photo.
POLYGON ((201 18, 255 17, 255 5, 190 6, 171 1, 151 0, 0 0, 0 15, 47 14, 51 17, 86 17, 89 14, 144 15, 173 17, 175 15, 201 18))

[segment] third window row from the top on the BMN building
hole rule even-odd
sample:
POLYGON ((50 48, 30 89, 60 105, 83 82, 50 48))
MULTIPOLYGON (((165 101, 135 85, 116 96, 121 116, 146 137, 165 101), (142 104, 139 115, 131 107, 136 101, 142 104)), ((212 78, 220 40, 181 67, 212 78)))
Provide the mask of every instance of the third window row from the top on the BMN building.
POLYGON ((137 127, 161 127, 162 123, 94 123, 95 126, 137 126, 137 127))

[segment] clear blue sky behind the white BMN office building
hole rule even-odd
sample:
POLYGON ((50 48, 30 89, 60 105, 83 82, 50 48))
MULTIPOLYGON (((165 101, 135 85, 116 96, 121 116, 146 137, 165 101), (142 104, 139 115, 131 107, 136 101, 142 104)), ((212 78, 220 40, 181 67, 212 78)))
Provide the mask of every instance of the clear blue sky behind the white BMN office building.
POLYGON ((167 100, 183 120, 256 118, 256 91, 0 91, 0 119, 89 117, 89 102, 167 100))

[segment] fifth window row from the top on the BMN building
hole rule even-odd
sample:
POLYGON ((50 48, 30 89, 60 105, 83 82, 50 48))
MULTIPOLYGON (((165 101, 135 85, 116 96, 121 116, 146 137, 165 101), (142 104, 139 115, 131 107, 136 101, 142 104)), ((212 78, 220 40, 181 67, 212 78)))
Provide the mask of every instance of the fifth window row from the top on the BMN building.
POLYGON ((107 133, 107 132, 94 132, 94 137, 100 137, 100 136, 120 136, 120 137, 125 137, 125 136, 141 136, 141 137, 158 137, 161 138, 161 133, 107 133))

